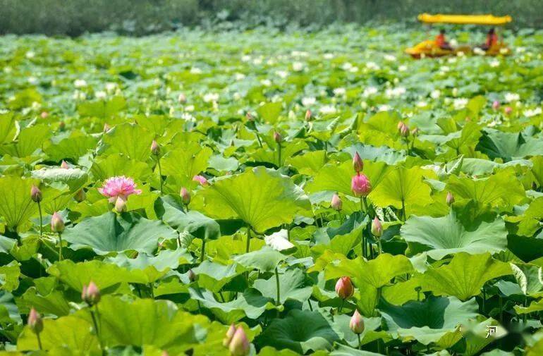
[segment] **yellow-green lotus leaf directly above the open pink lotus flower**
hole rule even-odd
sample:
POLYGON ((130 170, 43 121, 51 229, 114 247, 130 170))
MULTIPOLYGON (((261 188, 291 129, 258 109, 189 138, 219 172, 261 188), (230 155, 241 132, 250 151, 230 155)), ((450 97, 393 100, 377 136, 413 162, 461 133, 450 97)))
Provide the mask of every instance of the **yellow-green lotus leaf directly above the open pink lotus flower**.
POLYGON ((151 168, 140 161, 129 159, 118 153, 98 156, 90 167, 94 180, 106 180, 114 176, 127 176, 143 180, 152 174, 151 168))

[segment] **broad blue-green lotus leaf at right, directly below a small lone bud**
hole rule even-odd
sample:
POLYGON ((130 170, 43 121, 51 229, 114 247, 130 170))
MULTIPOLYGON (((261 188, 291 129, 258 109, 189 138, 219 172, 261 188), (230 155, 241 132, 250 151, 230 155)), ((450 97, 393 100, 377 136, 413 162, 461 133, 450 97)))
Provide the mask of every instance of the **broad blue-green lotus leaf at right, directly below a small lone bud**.
POLYGON ((400 231, 411 252, 427 251, 433 259, 456 252, 494 253, 507 247, 507 231, 501 218, 491 222, 460 221, 452 209, 440 218, 411 216, 400 231))

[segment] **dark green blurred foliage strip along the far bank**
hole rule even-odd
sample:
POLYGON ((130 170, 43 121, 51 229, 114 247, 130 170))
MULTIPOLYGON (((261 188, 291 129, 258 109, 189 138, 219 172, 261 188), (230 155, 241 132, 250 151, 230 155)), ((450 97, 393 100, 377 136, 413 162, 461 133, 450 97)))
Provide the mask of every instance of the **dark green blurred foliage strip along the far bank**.
POLYGON ((0 0, 0 33, 77 36, 114 30, 144 35, 181 25, 318 28, 334 22, 401 20, 418 13, 495 13, 514 27, 541 27, 539 0, 0 0), (231 25, 236 22, 236 25, 231 25))

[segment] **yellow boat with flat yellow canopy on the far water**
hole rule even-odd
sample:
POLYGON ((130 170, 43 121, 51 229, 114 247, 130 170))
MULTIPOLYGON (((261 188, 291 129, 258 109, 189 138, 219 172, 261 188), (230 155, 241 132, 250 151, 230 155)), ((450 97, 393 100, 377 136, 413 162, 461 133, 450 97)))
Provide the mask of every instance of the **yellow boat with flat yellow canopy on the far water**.
MULTIPOLYGON (((511 16, 492 16, 492 15, 431 15, 429 13, 421 13, 418 16, 418 20, 422 23, 449 23, 457 25, 491 25, 491 26, 503 26, 511 23, 513 20, 511 16)), ((454 49, 443 49, 437 45, 433 39, 427 39, 420 42, 414 47, 405 49, 405 53, 409 54, 413 58, 420 59, 425 57, 441 57, 441 56, 455 56, 459 52, 463 54, 470 54, 472 51, 477 51, 475 47, 472 49, 469 46, 456 47, 454 49)), ((479 51, 483 51, 479 48, 479 51)), ((499 41, 494 46, 490 47, 484 54, 487 56, 498 56, 511 54, 511 50, 504 42, 499 41)))

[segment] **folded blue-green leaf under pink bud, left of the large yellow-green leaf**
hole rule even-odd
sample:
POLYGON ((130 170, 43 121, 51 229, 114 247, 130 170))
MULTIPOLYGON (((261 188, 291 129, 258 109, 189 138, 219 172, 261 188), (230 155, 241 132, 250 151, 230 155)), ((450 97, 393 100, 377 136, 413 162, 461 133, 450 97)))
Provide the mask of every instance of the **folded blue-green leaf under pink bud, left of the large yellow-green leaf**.
POLYGON ((162 221, 177 231, 205 240, 215 240, 221 236, 219 223, 198 211, 185 211, 179 196, 160 197, 155 203, 155 210, 162 221))

